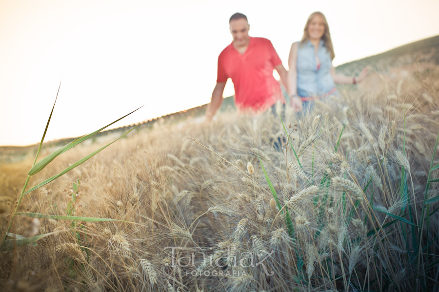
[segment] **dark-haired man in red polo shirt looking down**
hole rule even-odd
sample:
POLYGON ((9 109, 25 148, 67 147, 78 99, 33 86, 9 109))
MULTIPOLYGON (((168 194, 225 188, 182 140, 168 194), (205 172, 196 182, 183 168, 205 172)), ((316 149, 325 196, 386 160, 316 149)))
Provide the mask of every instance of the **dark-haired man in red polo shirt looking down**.
POLYGON ((250 25, 241 13, 232 15, 229 24, 233 41, 218 57, 217 84, 206 110, 208 121, 221 105, 228 78, 235 86, 235 104, 239 111, 258 113, 266 111, 278 100, 285 103, 279 82, 273 77, 273 69, 278 71, 285 88, 287 71, 271 41, 249 37, 250 25))

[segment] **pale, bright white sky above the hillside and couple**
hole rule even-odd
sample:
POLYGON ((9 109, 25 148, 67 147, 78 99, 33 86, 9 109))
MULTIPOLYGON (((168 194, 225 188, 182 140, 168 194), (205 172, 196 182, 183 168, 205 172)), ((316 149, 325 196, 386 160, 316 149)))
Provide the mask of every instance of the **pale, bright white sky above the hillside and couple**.
MULTIPOLYGON (((439 1, 0 0, 0 145, 81 136, 208 103, 228 19, 270 39, 287 67, 306 19, 325 14, 334 66, 439 35, 439 1)), ((229 80, 224 96, 233 94, 229 80)))

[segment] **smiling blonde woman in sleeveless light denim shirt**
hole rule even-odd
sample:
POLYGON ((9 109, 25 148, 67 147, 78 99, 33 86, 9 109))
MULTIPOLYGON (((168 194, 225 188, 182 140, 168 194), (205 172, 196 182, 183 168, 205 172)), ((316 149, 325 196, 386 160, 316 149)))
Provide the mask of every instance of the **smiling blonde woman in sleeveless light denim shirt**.
POLYGON ((296 111, 312 107, 316 98, 336 94, 335 83, 356 84, 366 78, 368 68, 358 77, 335 74, 334 57, 326 18, 321 12, 314 12, 306 21, 302 40, 291 45, 288 58, 290 104, 296 111))

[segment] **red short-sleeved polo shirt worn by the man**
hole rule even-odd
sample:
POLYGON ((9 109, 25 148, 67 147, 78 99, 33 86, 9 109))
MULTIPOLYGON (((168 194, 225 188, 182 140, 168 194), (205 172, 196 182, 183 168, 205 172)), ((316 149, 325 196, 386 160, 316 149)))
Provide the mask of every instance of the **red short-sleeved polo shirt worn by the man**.
POLYGON ((273 77, 273 69, 281 63, 268 39, 250 37, 244 54, 232 42, 218 57, 217 82, 232 79, 239 110, 265 111, 278 100, 285 103, 279 82, 273 77))

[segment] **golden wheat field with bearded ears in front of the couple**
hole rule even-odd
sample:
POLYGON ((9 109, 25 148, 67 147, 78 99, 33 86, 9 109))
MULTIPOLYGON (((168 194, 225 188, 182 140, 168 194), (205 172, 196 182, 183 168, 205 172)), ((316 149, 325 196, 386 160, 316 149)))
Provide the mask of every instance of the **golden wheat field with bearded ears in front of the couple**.
MULTIPOLYGON (((339 92, 307 115, 222 113, 120 139, 18 206, 115 220, 14 216, 17 238, 49 235, 1 252, 2 289, 438 291, 438 203, 426 201, 439 193, 427 184, 439 67, 339 92)), ((30 185, 97 148, 78 145, 30 185)), ((2 234, 32 160, 1 166, 2 234)))

